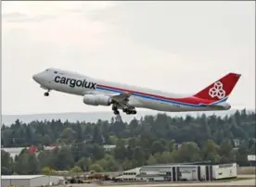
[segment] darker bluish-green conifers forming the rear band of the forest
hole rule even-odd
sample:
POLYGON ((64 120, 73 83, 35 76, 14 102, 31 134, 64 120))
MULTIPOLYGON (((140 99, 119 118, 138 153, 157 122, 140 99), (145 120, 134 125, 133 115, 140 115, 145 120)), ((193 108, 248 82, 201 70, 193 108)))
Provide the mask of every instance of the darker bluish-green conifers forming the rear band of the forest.
POLYGON ((115 144, 118 139, 141 137, 147 141, 174 140, 176 143, 206 140, 221 143, 224 138, 250 140, 255 138, 255 113, 238 111, 224 118, 206 115, 197 118, 171 118, 165 114, 133 119, 130 123, 120 118, 96 123, 32 121, 28 124, 19 119, 10 127, 2 126, 2 145, 27 146, 32 144, 73 143, 89 141, 97 144, 115 144))

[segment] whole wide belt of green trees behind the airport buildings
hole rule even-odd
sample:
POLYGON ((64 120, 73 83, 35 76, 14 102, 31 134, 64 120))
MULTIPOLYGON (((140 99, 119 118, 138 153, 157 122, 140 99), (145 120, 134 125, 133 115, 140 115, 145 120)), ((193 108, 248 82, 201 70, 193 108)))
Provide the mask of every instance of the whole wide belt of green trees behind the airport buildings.
POLYGON ((15 159, 2 150, 2 174, 36 174, 42 169, 46 172, 45 168, 117 171, 203 160, 246 166, 247 155, 255 154, 255 113, 245 109, 224 118, 159 114, 134 118, 130 123, 121 118, 96 123, 52 120, 24 124, 17 120, 10 127, 3 125, 1 133, 4 147, 33 144, 39 148, 36 155, 23 150, 15 159), (234 148, 235 139, 241 143, 238 148, 234 148), (43 145, 50 144, 60 148, 44 150, 43 145), (116 148, 106 151, 103 144, 115 144, 116 148))

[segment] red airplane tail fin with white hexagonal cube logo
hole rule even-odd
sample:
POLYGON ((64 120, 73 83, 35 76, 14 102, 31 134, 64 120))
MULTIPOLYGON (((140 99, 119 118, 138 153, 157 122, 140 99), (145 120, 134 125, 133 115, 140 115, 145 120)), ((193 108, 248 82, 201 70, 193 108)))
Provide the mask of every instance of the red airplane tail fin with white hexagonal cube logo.
POLYGON ((211 83, 208 87, 194 94, 193 96, 200 99, 211 100, 212 102, 227 100, 228 96, 235 88, 241 74, 228 73, 218 81, 211 83))

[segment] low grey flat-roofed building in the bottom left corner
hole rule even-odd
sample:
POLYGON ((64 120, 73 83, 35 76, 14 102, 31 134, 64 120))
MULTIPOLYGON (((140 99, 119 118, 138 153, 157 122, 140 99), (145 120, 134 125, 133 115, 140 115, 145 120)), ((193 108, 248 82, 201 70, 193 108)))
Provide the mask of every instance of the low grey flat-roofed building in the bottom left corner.
POLYGON ((63 184, 64 178, 46 175, 3 175, 1 187, 40 187, 48 184, 63 184))

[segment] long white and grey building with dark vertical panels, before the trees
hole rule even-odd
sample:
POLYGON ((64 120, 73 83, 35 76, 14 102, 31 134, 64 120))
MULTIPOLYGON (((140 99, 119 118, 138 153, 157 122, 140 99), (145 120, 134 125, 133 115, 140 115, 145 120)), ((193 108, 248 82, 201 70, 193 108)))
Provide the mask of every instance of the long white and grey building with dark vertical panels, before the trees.
POLYGON ((169 164, 124 171, 121 181, 213 181, 237 177, 237 164, 169 164))

